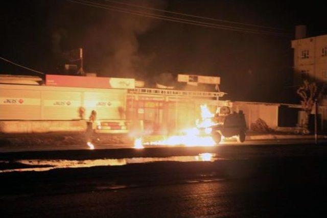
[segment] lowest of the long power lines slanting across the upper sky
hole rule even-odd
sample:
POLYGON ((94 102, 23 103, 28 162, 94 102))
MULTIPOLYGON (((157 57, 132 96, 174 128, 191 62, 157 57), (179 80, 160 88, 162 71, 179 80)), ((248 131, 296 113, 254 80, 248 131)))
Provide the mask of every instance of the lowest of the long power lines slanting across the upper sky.
POLYGON ((230 30, 230 31, 237 31, 237 32, 243 32, 243 33, 254 33, 254 34, 265 34, 265 35, 274 35, 274 36, 284 36, 284 37, 290 37, 289 35, 285 35, 283 33, 276 33, 276 32, 269 32, 269 31, 259 31, 259 30, 253 30, 253 29, 245 29, 245 28, 239 28, 239 27, 231 27, 231 26, 224 26, 224 25, 217 25, 215 23, 208 23, 208 22, 201 22, 201 21, 195 21, 195 20, 189 20, 189 19, 182 19, 182 18, 176 18, 176 17, 170 17, 170 16, 163 16, 163 15, 153 15, 146 12, 139 12, 139 11, 133 11, 129 9, 122 9, 118 7, 98 4, 94 2, 89 1, 78 1, 78 0, 67 0, 69 2, 96 7, 96 8, 102 8, 112 11, 119 11, 123 13, 138 15, 138 16, 144 16, 144 17, 150 17, 155 19, 161 19, 161 20, 168 20, 173 22, 179 22, 179 23, 186 23, 190 25, 196 25, 201 27, 208 27, 208 28, 214 28, 214 29, 223 29, 223 30, 230 30))

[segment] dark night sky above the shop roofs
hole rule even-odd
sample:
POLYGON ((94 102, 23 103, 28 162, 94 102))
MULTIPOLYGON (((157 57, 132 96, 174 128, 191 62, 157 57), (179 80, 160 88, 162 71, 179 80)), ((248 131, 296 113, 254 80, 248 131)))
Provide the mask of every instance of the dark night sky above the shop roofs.
MULTIPOLYGON (((228 92, 229 99, 278 102, 288 101, 289 95, 285 93, 293 90, 291 39, 295 25, 307 25, 308 36, 327 34, 326 11, 321 1, 124 2, 279 28, 269 31, 283 31, 290 37, 199 27, 64 0, 12 0, 0 9, 1 57, 59 74, 59 54, 83 47, 84 68, 100 76, 145 80, 158 78, 162 73, 220 76, 221 89, 228 92)), ((96 3, 137 9, 107 1, 96 3)), ((142 12, 172 16, 153 10, 142 12)), ((235 27, 232 23, 196 20, 235 27)), ((0 73, 36 75, 1 60, 0 73)))

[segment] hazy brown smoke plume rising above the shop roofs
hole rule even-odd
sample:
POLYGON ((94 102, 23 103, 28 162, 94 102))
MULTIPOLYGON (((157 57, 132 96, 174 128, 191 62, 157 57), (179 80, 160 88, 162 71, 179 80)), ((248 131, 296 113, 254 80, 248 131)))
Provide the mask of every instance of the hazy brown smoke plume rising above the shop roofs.
MULTIPOLYGON (((148 8, 164 8, 164 2, 160 0, 129 3, 148 8)), ((130 9, 128 6, 126 8, 130 9)), ((137 10, 158 14, 151 9, 137 10)), ((115 11, 107 11, 104 15, 105 17, 101 17, 100 22, 86 34, 87 47, 93 50, 90 51, 91 54, 96 54, 95 57, 89 57, 93 59, 90 63, 96 63, 96 68, 103 72, 103 76, 143 78, 151 55, 143 54, 139 50, 138 37, 154 28, 159 21, 115 11)))

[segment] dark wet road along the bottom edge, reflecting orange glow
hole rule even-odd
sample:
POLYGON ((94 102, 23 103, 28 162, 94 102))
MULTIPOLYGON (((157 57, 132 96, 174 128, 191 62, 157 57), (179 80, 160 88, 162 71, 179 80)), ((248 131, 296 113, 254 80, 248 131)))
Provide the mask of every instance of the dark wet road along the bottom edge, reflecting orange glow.
POLYGON ((322 191, 231 180, 21 197, 2 200, 2 207, 28 217, 323 217, 322 191))

